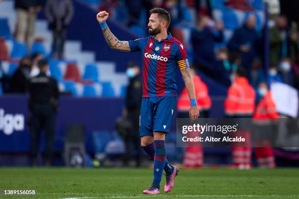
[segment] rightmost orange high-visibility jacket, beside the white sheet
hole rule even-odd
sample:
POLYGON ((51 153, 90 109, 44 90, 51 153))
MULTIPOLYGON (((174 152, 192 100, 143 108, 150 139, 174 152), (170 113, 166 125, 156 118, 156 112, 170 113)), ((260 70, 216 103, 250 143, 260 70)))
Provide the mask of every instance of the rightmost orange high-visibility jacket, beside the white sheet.
POLYGON ((260 100, 253 118, 279 118, 271 91, 268 91, 260 100))

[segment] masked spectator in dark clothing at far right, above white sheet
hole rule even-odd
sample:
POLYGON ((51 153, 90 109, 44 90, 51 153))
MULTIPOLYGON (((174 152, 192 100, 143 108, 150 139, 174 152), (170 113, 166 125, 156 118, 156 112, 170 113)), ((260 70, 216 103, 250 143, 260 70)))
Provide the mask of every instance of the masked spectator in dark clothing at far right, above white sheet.
POLYGON ((295 72, 289 58, 282 58, 279 63, 279 75, 283 83, 295 86, 295 72))

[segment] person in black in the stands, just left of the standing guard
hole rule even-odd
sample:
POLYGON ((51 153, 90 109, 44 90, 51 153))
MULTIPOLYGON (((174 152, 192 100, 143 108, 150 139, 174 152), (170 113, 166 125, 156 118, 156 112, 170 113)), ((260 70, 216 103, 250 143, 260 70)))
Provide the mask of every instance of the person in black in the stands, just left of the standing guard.
POLYGON ((10 81, 10 93, 26 93, 31 64, 30 57, 21 59, 19 68, 15 71, 10 81))

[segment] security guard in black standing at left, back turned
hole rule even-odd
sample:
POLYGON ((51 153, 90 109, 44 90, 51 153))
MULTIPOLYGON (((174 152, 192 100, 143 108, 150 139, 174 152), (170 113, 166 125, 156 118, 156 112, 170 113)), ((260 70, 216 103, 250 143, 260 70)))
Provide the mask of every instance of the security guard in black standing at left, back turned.
POLYGON ((57 81, 46 75, 49 64, 47 60, 38 62, 40 74, 29 80, 28 89, 30 94, 29 109, 31 111, 30 155, 33 165, 37 165, 37 153, 41 131, 45 133, 45 164, 51 164, 54 151, 55 116, 58 109, 58 84, 57 81))

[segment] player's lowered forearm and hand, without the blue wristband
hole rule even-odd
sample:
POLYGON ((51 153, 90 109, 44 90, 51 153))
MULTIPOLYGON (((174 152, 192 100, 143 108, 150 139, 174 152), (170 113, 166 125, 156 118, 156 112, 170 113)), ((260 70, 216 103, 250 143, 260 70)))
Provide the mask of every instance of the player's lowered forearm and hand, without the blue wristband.
MULTIPOLYGON (((189 95, 190 99, 196 99, 195 96, 195 88, 194 83, 191 77, 190 68, 183 68, 181 69, 181 73, 183 76, 183 79, 185 81, 185 86, 189 95)), ((191 106, 189 110, 189 117, 191 120, 195 120, 199 117, 199 110, 197 106, 191 106)))

